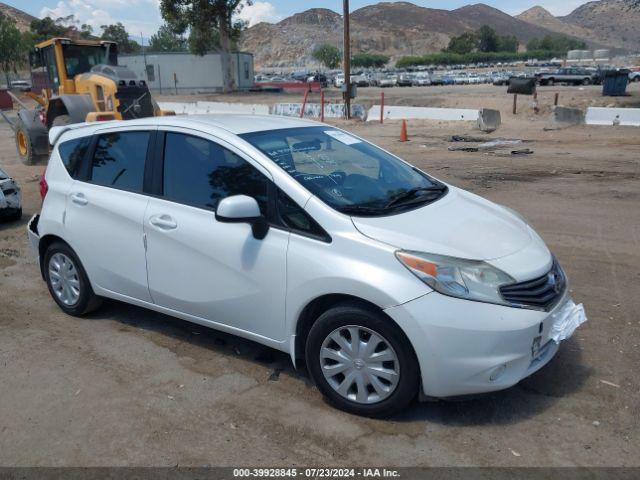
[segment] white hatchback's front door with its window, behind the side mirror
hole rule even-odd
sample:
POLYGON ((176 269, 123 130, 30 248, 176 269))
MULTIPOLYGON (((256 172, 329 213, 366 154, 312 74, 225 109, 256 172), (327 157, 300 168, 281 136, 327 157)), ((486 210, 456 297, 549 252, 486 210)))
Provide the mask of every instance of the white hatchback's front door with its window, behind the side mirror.
POLYGON ((215 218, 218 202, 255 198, 269 211, 271 178, 232 146, 183 129, 158 132, 158 191, 144 219, 153 301, 200 319, 284 339, 287 231, 254 238, 215 218))

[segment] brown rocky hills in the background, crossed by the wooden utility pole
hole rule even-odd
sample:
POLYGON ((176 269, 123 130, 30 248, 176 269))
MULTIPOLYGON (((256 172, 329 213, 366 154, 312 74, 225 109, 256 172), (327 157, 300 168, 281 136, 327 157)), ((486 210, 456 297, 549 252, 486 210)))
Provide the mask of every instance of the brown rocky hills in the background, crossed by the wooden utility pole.
MULTIPOLYGON (((493 27, 500 35, 515 35, 523 45, 559 28, 514 18, 483 4, 450 11, 408 2, 383 2, 352 12, 353 51, 383 53, 392 58, 438 52, 452 36, 483 25, 493 27)), ((602 45, 596 37, 585 36, 579 26, 564 33, 591 41, 594 46, 596 42, 602 45)), ((249 28, 243 34, 241 48, 255 54, 259 68, 306 66, 312 63, 311 52, 322 43, 342 46, 342 17, 332 10, 316 8, 276 24, 260 23, 249 28)))

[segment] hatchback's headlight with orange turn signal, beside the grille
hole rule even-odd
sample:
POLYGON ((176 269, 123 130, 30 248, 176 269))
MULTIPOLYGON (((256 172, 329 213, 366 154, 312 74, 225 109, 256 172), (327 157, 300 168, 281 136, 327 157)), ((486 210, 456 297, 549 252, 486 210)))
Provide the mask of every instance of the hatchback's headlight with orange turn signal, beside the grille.
POLYGON ((508 305, 500 295, 500 287, 515 283, 515 280, 486 262, 402 250, 396 252, 396 257, 436 292, 466 300, 508 305))

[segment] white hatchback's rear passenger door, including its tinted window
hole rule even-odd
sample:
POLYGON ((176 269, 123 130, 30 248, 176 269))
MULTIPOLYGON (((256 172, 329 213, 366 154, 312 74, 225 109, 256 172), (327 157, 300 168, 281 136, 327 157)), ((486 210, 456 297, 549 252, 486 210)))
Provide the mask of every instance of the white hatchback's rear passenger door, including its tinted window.
POLYGON ((71 187, 65 219, 68 238, 94 287, 146 302, 151 296, 142 222, 154 136, 155 127, 96 134, 85 171, 71 187))

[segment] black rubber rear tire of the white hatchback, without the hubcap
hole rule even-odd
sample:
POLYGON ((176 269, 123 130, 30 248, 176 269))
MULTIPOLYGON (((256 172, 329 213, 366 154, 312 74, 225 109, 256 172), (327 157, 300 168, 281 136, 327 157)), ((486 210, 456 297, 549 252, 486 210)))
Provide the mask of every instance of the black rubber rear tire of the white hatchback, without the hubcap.
POLYGON ((51 294, 51 297, 58 304, 58 306, 63 312, 65 312, 68 315, 80 317, 80 316, 86 315, 87 313, 93 312, 94 310, 100 307, 100 305, 102 304, 102 299, 98 297, 95 293, 93 293, 93 289, 91 288, 91 283, 87 278, 87 273, 85 272, 84 267, 82 266, 82 263, 78 259, 77 255, 71 249, 71 247, 69 247, 69 245, 63 242, 52 243, 51 245, 49 245, 46 252, 44 253, 42 261, 43 261, 42 269, 44 271, 44 278, 45 278, 45 281, 47 282, 47 288, 49 289, 49 293, 51 294), (80 295, 77 302, 75 302, 73 305, 67 305, 64 302, 62 302, 62 300, 60 300, 60 298, 58 298, 58 295, 55 293, 54 287, 52 286, 52 283, 51 283, 51 276, 49 272, 49 262, 51 260, 51 257, 53 257, 57 253, 62 253, 63 255, 68 257, 73 262, 77 272, 77 278, 80 284, 80 288, 79 288, 80 295))

